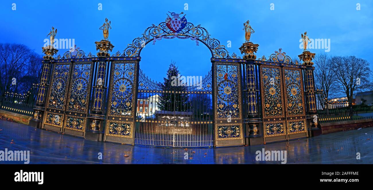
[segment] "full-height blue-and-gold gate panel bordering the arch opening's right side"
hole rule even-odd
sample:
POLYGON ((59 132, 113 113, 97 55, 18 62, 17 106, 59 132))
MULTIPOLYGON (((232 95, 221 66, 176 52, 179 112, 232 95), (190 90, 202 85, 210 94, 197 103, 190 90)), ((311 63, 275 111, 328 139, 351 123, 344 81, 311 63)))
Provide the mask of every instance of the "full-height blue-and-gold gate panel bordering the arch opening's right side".
POLYGON ((213 67, 216 146, 242 145, 240 64, 214 62, 213 67))

